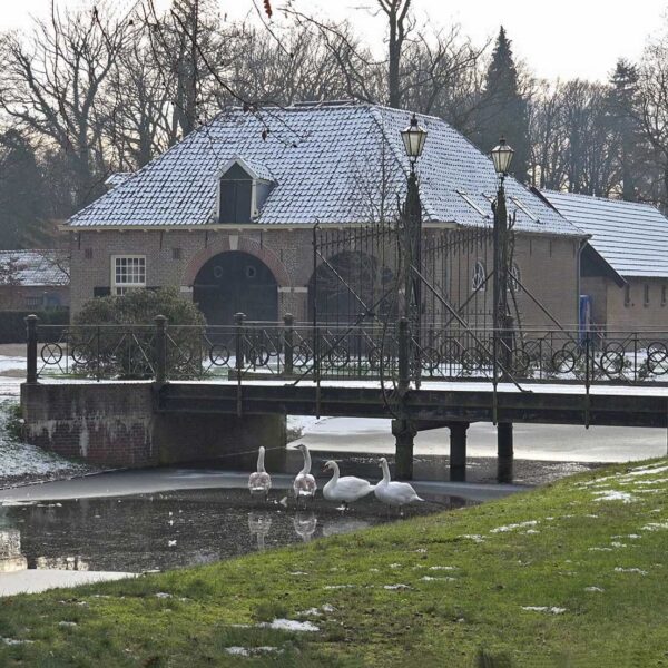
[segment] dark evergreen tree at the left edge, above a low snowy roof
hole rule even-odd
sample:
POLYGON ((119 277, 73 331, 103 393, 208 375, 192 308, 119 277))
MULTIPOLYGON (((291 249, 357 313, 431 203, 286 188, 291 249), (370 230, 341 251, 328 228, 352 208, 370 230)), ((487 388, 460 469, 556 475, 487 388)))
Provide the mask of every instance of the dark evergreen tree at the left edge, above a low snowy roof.
POLYGON ((43 177, 30 143, 10 129, 0 135, 0 248, 43 242, 43 177))

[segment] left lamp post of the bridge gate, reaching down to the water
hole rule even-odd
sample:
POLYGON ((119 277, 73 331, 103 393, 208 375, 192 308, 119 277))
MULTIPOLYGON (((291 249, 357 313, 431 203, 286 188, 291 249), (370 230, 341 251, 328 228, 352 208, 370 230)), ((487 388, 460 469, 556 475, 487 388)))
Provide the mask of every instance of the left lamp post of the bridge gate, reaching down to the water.
POLYGON ((399 396, 401 412, 392 421, 392 433, 396 439, 396 477, 404 480, 413 478, 413 438, 415 426, 406 410, 405 396, 409 392, 411 377, 420 383, 420 320, 422 311, 420 278, 413 275, 412 267, 420 267, 422 259, 422 210, 415 163, 422 155, 426 140, 426 130, 418 125, 413 114, 411 124, 402 130, 401 138, 411 164, 409 174, 406 202, 401 216, 400 244, 403 259, 404 298, 399 321, 399 396), (412 369, 411 369, 412 367, 412 369))

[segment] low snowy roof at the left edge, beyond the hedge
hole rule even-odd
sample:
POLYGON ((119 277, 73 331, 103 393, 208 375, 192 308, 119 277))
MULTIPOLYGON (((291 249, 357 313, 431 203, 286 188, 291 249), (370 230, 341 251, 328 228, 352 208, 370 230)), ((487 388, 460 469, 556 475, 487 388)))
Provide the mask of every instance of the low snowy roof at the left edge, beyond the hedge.
POLYGON ((0 250, 0 285, 69 285, 68 272, 58 250, 0 250))

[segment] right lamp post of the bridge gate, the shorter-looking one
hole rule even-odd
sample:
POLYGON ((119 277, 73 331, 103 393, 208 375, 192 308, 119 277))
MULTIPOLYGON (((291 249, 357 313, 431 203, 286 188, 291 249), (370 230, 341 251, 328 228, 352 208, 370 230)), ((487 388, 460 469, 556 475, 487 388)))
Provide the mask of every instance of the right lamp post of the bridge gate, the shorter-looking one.
POLYGON ((498 354, 501 352, 503 362, 503 375, 507 375, 511 365, 512 351, 512 318, 508 311, 508 273, 509 273, 509 249, 508 249, 508 209, 505 206, 505 189, 503 181, 510 170, 510 165, 514 156, 514 150, 501 137, 499 145, 492 151, 492 161, 494 169, 499 175, 499 189, 497 199, 492 204, 494 213, 494 285, 493 285, 493 347, 494 347, 494 380, 497 379, 498 354), (501 345, 501 351, 499 351, 501 345))

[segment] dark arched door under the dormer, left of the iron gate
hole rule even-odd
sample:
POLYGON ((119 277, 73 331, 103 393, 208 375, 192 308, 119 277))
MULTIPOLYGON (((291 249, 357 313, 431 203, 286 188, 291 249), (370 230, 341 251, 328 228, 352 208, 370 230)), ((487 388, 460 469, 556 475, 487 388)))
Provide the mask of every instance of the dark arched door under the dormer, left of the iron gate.
POLYGON ((252 321, 278 320, 278 284, 261 259, 230 250, 212 257, 197 273, 193 301, 209 325, 229 325, 235 313, 252 321))

